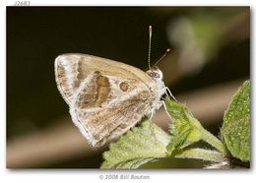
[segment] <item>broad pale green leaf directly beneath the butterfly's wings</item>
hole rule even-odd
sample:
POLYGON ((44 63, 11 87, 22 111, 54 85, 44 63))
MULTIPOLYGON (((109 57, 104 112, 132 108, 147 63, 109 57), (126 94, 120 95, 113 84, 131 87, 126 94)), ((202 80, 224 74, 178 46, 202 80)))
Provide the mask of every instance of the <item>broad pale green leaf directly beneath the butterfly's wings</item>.
POLYGON ((103 152, 104 162, 100 168, 137 168, 165 157, 169 141, 170 135, 143 119, 139 127, 127 131, 116 143, 110 144, 109 151, 103 152))

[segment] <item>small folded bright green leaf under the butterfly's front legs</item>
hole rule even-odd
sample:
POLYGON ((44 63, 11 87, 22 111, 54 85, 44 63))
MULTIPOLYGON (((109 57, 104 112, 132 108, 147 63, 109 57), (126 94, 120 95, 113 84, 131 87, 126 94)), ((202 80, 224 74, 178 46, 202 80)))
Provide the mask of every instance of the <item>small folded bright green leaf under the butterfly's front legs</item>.
POLYGON ((202 139, 203 127, 185 105, 166 98, 165 107, 173 123, 172 140, 167 146, 168 155, 175 149, 182 149, 202 139))

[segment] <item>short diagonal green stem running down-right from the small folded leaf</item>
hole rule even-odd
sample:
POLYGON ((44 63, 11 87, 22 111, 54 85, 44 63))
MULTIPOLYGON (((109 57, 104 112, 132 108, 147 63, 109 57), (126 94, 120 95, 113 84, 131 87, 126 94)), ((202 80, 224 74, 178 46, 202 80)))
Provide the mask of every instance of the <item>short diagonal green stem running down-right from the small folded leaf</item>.
POLYGON ((216 148, 219 152, 223 152, 224 154, 227 153, 224 144, 217 137, 215 137, 204 128, 202 128, 201 133, 203 141, 216 148))

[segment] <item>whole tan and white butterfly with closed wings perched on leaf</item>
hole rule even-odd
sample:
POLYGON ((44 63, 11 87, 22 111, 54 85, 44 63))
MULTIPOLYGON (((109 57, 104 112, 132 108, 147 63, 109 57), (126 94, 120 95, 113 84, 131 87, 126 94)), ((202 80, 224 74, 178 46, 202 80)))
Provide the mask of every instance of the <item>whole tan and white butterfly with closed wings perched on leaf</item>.
POLYGON ((58 56, 55 78, 72 121, 94 147, 125 133, 142 117, 152 116, 165 92, 156 66, 144 72, 88 54, 58 56))

